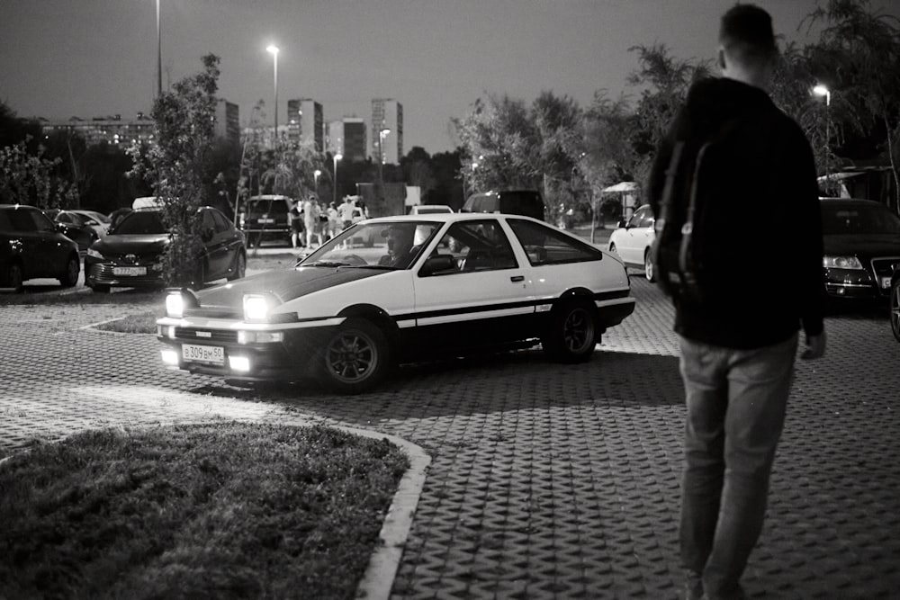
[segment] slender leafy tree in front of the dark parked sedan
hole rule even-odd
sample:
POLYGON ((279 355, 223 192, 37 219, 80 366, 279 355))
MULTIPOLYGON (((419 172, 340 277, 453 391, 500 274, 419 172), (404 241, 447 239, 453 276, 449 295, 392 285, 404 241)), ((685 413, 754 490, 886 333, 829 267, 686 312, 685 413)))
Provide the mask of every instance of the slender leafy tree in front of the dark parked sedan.
POLYGON ((200 207, 209 202, 216 173, 211 169, 219 57, 202 58, 203 70, 184 77, 153 104, 157 145, 138 155, 135 173, 152 185, 162 202, 163 222, 172 241, 163 255, 166 283, 202 284, 200 207))

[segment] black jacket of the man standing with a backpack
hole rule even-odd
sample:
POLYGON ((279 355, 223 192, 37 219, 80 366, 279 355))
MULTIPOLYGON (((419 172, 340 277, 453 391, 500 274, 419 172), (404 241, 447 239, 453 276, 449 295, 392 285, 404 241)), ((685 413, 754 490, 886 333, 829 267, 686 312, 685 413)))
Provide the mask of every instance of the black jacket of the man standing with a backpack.
MULTIPOLYGON (((698 244, 715 248, 708 266, 727 293, 706 304, 675 300, 675 331, 729 348, 777 344, 801 323, 807 336, 820 334, 825 296, 815 159, 797 123, 760 88, 727 78, 691 87, 653 162, 653 213, 660 214, 676 142, 686 142, 690 168, 703 141, 725 128, 727 148, 707 151, 707 157, 720 156, 710 157, 713 168, 703 173, 716 178, 712 188, 725 191, 715 199, 724 218, 719 227, 703 229, 698 244)), ((676 201, 687 201, 686 188, 677 189, 676 201)))

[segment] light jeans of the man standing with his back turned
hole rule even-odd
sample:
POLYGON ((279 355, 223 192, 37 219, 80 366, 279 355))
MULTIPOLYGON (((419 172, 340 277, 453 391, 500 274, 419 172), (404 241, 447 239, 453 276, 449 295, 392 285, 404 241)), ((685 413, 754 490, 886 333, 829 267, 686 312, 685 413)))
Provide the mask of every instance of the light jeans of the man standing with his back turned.
POLYGON ((681 482, 681 560, 709 598, 740 597, 762 531, 784 425, 797 335, 753 350, 680 337, 688 418, 681 482))

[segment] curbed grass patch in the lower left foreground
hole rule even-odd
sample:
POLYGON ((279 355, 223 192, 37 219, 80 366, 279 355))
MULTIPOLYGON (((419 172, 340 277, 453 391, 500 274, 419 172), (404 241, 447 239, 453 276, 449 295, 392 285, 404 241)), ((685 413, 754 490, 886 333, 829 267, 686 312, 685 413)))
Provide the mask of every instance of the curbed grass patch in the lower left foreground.
POLYGON ((409 461, 324 427, 178 425, 0 465, 8 597, 352 598, 409 461))

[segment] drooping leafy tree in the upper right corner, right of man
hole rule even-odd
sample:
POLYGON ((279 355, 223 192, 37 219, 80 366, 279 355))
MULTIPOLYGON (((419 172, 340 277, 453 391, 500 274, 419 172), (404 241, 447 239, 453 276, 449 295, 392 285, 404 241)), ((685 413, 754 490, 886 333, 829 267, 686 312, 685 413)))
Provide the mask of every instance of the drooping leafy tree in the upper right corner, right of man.
POLYGON ((884 137, 895 184, 891 203, 900 211, 900 21, 873 12, 869 0, 828 0, 808 19, 825 23, 814 51, 831 80, 832 99, 855 107, 859 125, 884 137))

